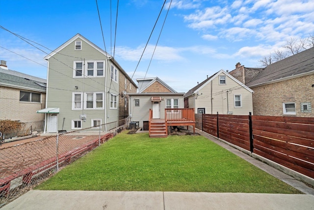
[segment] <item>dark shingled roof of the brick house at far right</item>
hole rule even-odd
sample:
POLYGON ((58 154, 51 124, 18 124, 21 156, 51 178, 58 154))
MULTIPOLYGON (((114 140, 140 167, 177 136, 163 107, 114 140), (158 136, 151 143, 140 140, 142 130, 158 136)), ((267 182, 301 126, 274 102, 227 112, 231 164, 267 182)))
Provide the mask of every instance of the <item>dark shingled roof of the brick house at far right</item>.
POLYGON ((314 48, 268 65, 247 84, 256 87, 314 73, 314 48))

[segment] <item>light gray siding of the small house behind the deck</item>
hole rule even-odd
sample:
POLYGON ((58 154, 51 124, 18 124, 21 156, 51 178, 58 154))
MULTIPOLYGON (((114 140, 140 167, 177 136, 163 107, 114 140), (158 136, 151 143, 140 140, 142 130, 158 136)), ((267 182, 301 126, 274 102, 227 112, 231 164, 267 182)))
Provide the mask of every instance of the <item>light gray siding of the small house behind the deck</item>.
MULTIPOLYGON (((179 108, 184 107, 183 96, 180 95, 154 95, 160 96, 160 119, 165 119, 166 99, 178 99, 179 108)), ((149 110, 153 109, 152 95, 131 95, 129 102, 131 121, 139 121, 139 127, 143 127, 143 121, 149 120, 149 110), (135 99, 139 99, 139 106, 135 106, 135 99)))

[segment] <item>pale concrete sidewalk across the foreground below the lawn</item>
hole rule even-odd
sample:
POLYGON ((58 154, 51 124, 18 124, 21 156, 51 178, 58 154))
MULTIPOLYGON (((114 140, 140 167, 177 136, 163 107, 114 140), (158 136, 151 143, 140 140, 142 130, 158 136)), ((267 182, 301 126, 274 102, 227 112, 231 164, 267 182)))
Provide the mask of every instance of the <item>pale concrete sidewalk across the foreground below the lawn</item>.
POLYGON ((31 190, 3 210, 313 210, 313 195, 31 190))

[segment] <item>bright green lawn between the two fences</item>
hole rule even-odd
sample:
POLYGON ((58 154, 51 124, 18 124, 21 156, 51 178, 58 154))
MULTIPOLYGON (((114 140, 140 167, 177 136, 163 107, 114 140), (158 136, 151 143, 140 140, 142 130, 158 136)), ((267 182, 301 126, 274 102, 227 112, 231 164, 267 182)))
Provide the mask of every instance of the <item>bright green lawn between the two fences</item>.
POLYGON ((36 189, 301 193, 203 136, 126 131, 36 189))

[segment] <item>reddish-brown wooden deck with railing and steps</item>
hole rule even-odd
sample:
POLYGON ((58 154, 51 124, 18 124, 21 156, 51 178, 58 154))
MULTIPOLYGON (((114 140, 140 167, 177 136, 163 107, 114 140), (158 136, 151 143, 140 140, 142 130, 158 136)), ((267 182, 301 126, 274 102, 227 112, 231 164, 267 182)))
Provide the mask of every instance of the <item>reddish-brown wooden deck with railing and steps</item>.
POLYGON ((194 108, 165 109, 165 119, 153 119, 153 110, 149 114, 149 136, 162 138, 168 136, 168 126, 193 126, 195 133, 194 108))

